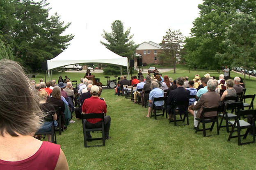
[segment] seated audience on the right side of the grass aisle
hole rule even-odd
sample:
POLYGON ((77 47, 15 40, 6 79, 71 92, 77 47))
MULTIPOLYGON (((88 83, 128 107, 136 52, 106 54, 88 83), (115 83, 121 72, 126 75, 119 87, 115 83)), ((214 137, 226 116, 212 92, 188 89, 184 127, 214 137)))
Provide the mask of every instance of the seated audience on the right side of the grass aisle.
MULTIPOLYGON (((200 118, 203 107, 213 108, 223 105, 224 103, 231 103, 235 101, 224 101, 225 97, 237 96, 237 94, 243 92, 245 85, 242 82, 241 77, 235 77, 233 80, 227 79, 223 74, 219 75, 219 80, 216 80, 215 76, 210 76, 210 74, 205 74, 203 78, 196 74, 192 80, 186 77, 179 77, 173 81, 172 78, 164 76, 159 72, 155 72, 153 76, 148 72, 146 77, 140 74, 140 78, 137 76, 132 76, 131 81, 127 80, 124 76, 124 80, 119 82, 119 88, 117 88, 118 96, 121 95, 123 91, 123 85, 132 85, 136 87, 133 93, 134 103, 137 103, 137 96, 145 98, 149 101, 149 110, 146 117, 149 117, 152 112, 152 103, 154 98, 167 96, 167 113, 168 119, 173 120, 174 115, 172 115, 171 110, 174 107, 174 101, 182 102, 189 100, 188 110, 182 107, 174 108, 179 114, 184 114, 189 112, 194 116, 194 129, 197 128, 198 121, 195 118, 200 118), (149 93, 145 93, 145 91, 149 93)), ((163 101, 156 101, 155 107, 161 108, 164 106, 163 101)), ((146 105, 142 101, 142 105, 146 105)), ((217 112, 209 112, 206 117, 217 116, 217 112)), ((248 122, 251 121, 249 116, 248 122)), ((251 122, 250 122, 251 123, 251 122)))

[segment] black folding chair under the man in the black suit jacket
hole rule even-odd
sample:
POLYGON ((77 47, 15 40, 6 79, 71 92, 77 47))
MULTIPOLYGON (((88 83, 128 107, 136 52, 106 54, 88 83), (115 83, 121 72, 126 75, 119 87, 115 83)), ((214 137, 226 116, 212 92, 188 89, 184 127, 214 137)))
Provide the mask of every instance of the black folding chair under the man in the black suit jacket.
MULTIPOLYGON (((174 122, 174 126, 177 126, 177 122, 179 122, 179 121, 185 122, 185 119, 187 118, 187 124, 183 124, 183 125, 189 125, 189 122, 188 122, 188 112, 187 112, 188 103, 189 103, 189 100, 183 101, 183 102, 176 102, 176 101, 174 101, 174 106, 173 106, 173 108, 171 110, 171 114, 174 115, 174 120, 170 119, 169 123, 174 122), (181 116, 181 113, 175 111, 176 107, 183 107, 183 109, 184 109, 184 116, 183 116, 183 118, 181 116), (176 115, 180 115, 181 119, 177 120, 176 119, 176 115)), ((182 125, 178 125, 178 126, 182 126, 182 125)))

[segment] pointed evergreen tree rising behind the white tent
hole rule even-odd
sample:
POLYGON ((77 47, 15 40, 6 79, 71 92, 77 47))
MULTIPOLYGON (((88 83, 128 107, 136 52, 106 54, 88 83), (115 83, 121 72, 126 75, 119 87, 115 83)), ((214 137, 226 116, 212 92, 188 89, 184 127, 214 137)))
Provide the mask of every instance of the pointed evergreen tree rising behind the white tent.
POLYGON ((133 42, 133 35, 129 36, 130 28, 124 32, 123 22, 115 20, 111 24, 111 29, 110 33, 103 30, 104 34, 101 36, 107 40, 107 43, 101 41, 101 44, 120 56, 131 58, 139 45, 133 42))

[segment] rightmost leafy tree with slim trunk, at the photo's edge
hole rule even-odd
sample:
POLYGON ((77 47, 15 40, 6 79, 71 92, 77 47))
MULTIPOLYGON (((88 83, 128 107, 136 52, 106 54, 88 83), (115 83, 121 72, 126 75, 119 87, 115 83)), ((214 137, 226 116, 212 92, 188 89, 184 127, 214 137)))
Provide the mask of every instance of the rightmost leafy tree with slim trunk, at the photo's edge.
POLYGON ((233 61, 233 65, 239 65, 248 70, 256 64, 255 40, 256 19, 251 14, 238 12, 233 16, 231 27, 226 31, 226 39, 223 41, 226 52, 219 56, 228 56, 233 61))

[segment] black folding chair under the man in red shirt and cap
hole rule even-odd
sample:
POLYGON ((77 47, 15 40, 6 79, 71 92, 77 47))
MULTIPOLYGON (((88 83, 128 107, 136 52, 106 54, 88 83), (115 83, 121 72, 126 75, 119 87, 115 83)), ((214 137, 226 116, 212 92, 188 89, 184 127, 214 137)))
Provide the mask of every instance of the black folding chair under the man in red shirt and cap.
POLYGON ((105 123, 104 123, 104 112, 103 113, 88 113, 88 114, 82 114, 82 127, 83 127, 83 134, 84 134, 84 143, 85 148, 92 147, 92 146, 105 146, 105 123), (102 119, 101 122, 101 128, 86 128, 85 119, 102 119), (101 131, 102 137, 100 138, 86 138, 86 132, 94 132, 94 131, 101 131), (102 145, 87 145, 87 141, 95 141, 95 140, 102 140, 102 145))

